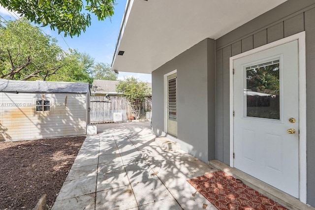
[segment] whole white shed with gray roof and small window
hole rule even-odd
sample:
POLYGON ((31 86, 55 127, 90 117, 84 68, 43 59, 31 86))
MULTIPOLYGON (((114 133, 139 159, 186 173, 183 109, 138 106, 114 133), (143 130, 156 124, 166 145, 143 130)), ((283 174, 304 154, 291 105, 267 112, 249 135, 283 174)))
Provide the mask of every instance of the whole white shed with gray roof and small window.
POLYGON ((0 79, 0 141, 85 135, 89 104, 89 83, 0 79))

